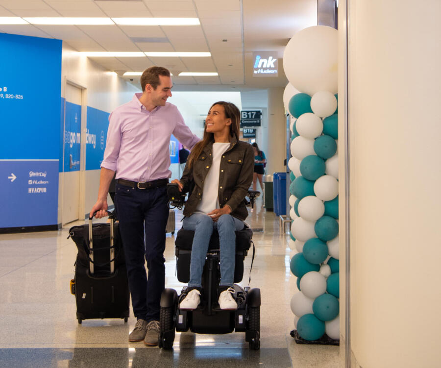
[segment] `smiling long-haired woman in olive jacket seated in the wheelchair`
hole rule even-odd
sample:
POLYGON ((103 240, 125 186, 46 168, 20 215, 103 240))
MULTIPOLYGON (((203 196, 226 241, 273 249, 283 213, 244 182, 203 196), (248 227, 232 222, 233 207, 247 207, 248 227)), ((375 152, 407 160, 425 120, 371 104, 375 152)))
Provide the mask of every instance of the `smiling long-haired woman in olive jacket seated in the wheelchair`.
POLYGON ((196 309, 202 292, 201 277, 213 229, 219 232, 221 282, 219 306, 237 309, 233 298, 235 231, 245 227, 245 195, 251 185, 254 151, 239 141, 240 111, 230 102, 214 103, 205 120, 203 139, 196 144, 180 180, 172 183, 188 192, 182 227, 193 230, 188 293, 180 309, 196 309))

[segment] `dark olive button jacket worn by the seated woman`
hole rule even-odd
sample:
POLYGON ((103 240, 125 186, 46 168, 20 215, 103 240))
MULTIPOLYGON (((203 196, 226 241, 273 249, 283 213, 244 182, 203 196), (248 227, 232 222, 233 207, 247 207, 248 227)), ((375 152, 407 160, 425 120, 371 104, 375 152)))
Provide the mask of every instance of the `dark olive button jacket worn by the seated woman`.
MULTIPOLYGON (((192 190, 183 212, 186 217, 196 211, 202 198, 205 177, 213 163, 212 154, 213 142, 204 147, 191 168, 188 162, 185 165, 180 182, 184 193, 192 190)), ((227 204, 231 207, 231 215, 243 221, 248 216, 244 199, 253 180, 253 147, 233 137, 230 147, 222 154, 219 170, 219 205, 222 208, 227 204)))

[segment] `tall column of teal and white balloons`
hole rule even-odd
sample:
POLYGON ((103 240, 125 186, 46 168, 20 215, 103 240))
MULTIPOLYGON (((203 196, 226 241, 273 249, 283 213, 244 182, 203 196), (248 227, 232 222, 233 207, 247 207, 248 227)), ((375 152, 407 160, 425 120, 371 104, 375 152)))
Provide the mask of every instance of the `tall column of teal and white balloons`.
POLYGON ((290 83, 284 103, 291 123, 290 245, 299 292, 291 299, 298 335, 340 339, 337 30, 305 28, 283 55, 290 83))

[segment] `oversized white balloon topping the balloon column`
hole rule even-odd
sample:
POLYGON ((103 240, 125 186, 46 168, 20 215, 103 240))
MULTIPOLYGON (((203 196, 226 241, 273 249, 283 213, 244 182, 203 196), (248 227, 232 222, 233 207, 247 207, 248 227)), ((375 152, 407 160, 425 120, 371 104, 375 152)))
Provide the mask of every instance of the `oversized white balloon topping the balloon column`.
POLYGON ((338 31, 315 25, 291 37, 283 53, 283 69, 290 83, 309 96, 337 93, 338 31))

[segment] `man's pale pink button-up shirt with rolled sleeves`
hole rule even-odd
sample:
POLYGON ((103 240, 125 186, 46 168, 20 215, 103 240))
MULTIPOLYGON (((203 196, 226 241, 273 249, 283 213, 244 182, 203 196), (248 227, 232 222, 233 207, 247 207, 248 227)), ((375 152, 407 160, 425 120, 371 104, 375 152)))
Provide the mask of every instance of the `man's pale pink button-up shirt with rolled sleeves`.
POLYGON ((175 105, 167 102, 148 111, 136 93, 109 116, 102 168, 116 171, 117 179, 152 181, 169 178, 170 137, 193 148, 199 141, 185 125, 175 105))

